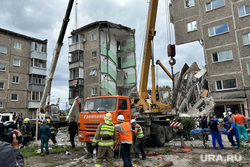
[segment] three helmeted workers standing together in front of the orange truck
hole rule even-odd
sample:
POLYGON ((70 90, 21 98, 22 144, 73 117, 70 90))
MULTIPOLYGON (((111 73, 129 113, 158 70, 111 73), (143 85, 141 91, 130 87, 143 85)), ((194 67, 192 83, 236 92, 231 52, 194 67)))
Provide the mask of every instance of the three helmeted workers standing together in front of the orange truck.
POLYGON ((124 167, 132 167, 130 150, 133 144, 133 135, 135 136, 134 151, 135 158, 139 158, 139 150, 142 160, 146 159, 144 151, 144 135, 141 126, 136 123, 135 119, 131 122, 124 122, 124 116, 117 117, 119 124, 112 123, 112 114, 107 113, 103 123, 99 124, 95 133, 92 146, 96 149, 98 143, 98 153, 95 167, 101 167, 103 160, 106 158, 108 166, 113 166, 114 150, 118 143, 121 144, 121 156, 124 167), (117 141, 117 132, 119 133, 120 141, 117 141))

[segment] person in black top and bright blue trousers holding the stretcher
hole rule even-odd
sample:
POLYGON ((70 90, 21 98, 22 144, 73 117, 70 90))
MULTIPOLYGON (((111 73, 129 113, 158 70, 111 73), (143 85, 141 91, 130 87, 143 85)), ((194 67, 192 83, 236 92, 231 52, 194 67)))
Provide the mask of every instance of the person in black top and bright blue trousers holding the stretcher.
POLYGON ((224 146, 222 144, 221 140, 221 131, 220 131, 220 124, 217 122, 214 118, 214 116, 210 116, 210 121, 208 122, 208 128, 210 129, 211 136, 212 136, 212 143, 213 147, 216 150, 216 141, 220 145, 221 149, 224 149, 224 146))

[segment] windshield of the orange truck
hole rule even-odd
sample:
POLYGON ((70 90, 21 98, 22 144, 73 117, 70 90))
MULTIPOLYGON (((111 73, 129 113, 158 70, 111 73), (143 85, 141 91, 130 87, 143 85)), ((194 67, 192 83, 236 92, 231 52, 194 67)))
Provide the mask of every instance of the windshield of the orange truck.
POLYGON ((83 111, 114 111, 116 109, 116 98, 96 98, 85 101, 83 111))

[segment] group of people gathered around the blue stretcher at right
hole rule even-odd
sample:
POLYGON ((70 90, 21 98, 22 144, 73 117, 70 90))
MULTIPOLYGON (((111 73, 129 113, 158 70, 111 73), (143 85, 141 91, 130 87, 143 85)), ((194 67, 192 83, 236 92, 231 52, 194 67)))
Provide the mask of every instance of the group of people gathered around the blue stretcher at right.
MULTIPOLYGON (((248 143, 248 135, 245 125, 247 125, 247 118, 240 114, 239 111, 235 111, 234 116, 230 116, 229 112, 223 119, 224 127, 227 130, 228 140, 231 142, 232 146, 237 146, 240 148, 241 134, 244 136, 244 140, 248 143), (233 139, 235 137, 236 143, 233 139)), ((221 126, 219 120, 216 118, 215 114, 210 116, 210 121, 207 122, 207 117, 204 114, 201 118, 201 128, 209 128, 212 136, 213 148, 216 149, 216 140, 221 149, 224 149, 221 139, 221 126)), ((206 137, 208 140, 208 136, 206 137)))

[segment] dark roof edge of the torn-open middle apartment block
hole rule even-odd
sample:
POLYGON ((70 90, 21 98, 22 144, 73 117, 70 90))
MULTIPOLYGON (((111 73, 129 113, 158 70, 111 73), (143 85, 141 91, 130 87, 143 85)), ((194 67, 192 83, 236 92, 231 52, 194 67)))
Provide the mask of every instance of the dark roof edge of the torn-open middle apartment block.
POLYGON ((86 30, 86 29, 89 29, 89 28, 93 28, 93 27, 97 27, 99 26, 100 28, 117 28, 117 29, 122 29, 122 30, 125 30, 127 32, 131 32, 131 33, 135 33, 135 29, 131 29, 129 27, 126 27, 126 26, 123 26, 121 24, 115 24, 115 23, 112 23, 112 22, 109 22, 109 21, 96 21, 96 22, 93 22, 93 23, 90 23, 88 25, 85 25, 81 28, 78 28, 76 30, 73 30, 71 32, 71 35, 74 35, 78 32, 81 32, 83 30, 86 30))

